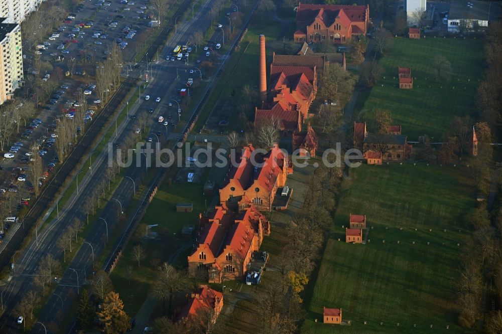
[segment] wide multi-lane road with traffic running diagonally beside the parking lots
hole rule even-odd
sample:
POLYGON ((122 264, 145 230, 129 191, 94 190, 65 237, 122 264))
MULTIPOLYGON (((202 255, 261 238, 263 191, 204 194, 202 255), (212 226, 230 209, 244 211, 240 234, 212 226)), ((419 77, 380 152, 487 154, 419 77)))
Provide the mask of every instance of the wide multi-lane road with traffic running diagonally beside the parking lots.
MULTIPOLYGON (((205 1, 199 10, 199 13, 194 16, 194 20, 189 20, 183 25, 178 23, 177 34, 168 41, 165 50, 162 51, 162 59, 165 59, 165 55, 171 53, 172 48, 180 41, 186 42, 190 40, 190 37, 197 29, 207 27, 210 24, 207 13, 210 10, 212 2, 213 0, 205 1)), ((199 51, 201 52, 202 50, 199 51)), ((193 67, 193 64, 189 64, 189 66, 193 67)), ((142 98, 137 104, 130 106, 130 114, 147 113, 148 109, 155 108, 153 113, 149 113, 151 116, 150 122, 152 124, 151 131, 153 133, 166 130, 171 132, 173 130, 172 126, 168 126, 166 128, 164 125, 159 124, 157 122, 157 118, 159 115, 165 116, 166 112, 169 112, 169 110, 172 110, 173 114, 176 113, 177 107, 169 107, 168 104, 171 100, 171 96, 175 93, 175 89, 180 83, 180 81, 177 81, 176 79, 177 68, 180 67, 186 68, 183 63, 177 61, 160 61, 159 63, 153 64, 153 78, 150 78, 150 84, 147 90, 142 92, 142 96, 146 94, 152 97, 159 96, 161 97, 161 102, 155 102, 154 98, 149 101, 145 101, 142 98)), ((134 75, 134 72, 131 73, 131 75, 134 75)), ((180 80, 183 79, 185 78, 180 78, 180 80)), ((173 105, 176 104, 173 103, 173 105)), ((134 133, 134 129, 136 127, 138 126, 135 124, 133 119, 124 120, 119 126, 120 133, 118 138, 113 139, 114 142, 120 142, 126 136, 136 135, 134 133)), ((177 127, 178 130, 182 128, 183 126, 177 127)), ((89 133, 89 136, 91 135, 92 133, 89 133)), ((83 152, 81 152, 81 154, 83 154, 83 152)), ((94 186, 98 183, 97 180, 100 177, 103 177, 103 171, 106 168, 106 164, 106 152, 94 155, 92 169, 85 172, 85 174, 81 176, 79 194, 73 194, 65 208, 59 208, 60 219, 56 219, 47 224, 47 226, 39 233, 38 244, 36 240, 33 240, 26 250, 16 257, 17 259, 13 278, 10 280, 8 285, 0 287, 4 305, 7 307, 7 311, 0 318, 0 332, 16 332, 19 329, 19 325, 16 323, 16 318, 19 314, 14 312, 14 306, 17 302, 19 302, 23 292, 26 292, 31 288, 33 278, 32 275, 36 272, 40 258, 48 253, 52 253, 55 256, 61 256, 61 252, 57 250, 55 245, 64 228, 76 217, 85 221, 85 214, 81 208, 81 203, 88 199, 94 186)), ((139 176, 144 169, 145 164, 143 162, 142 166, 139 167, 136 167, 135 164, 133 164, 133 166, 127 171, 127 176, 136 180, 136 187, 140 182, 139 176)), ((126 210, 126 208, 130 205, 133 193, 133 182, 129 178, 126 178, 119 184, 112 198, 120 202, 122 208, 126 210)), ((108 235, 111 235, 114 232, 117 224, 117 206, 119 205, 117 201, 111 201, 105 204, 103 214, 100 217, 102 220, 99 219, 98 222, 94 223, 94 226, 86 237, 86 243, 82 245, 73 258, 69 266, 70 269, 68 269, 62 277, 58 278, 59 284, 56 288, 55 294, 50 297, 49 302, 45 305, 39 317, 39 320, 46 325, 49 332, 52 332, 59 326, 62 316, 72 302, 71 296, 74 295, 74 292, 77 292, 77 289, 82 284, 85 283, 88 278, 87 274, 89 273, 89 270, 92 271, 92 253, 94 253, 94 257, 97 257, 104 247, 106 233, 108 232, 108 235)), ((133 208, 132 212, 136 212, 136 208, 133 208)), ((38 213, 38 216, 41 214, 42 213, 38 213)), ((126 219, 129 224, 134 217, 127 217, 126 219)), ((42 326, 36 326, 34 328, 34 332, 44 332, 44 328, 42 326)))

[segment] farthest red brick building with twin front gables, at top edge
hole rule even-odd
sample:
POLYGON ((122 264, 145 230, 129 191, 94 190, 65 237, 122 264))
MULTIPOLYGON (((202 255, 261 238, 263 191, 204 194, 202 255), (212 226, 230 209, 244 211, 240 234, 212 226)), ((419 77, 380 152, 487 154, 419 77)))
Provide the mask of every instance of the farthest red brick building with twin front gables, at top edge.
POLYGON ((366 35, 368 6, 299 4, 293 40, 345 44, 354 35, 366 35))

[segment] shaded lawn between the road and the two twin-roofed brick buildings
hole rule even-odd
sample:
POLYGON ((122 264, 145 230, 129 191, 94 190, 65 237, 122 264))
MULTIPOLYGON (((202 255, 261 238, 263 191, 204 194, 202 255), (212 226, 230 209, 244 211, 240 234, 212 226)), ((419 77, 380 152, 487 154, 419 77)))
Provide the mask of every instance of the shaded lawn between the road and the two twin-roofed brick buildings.
MULTIPOLYGON (((201 183, 177 183, 169 186, 164 182, 148 206, 141 222, 148 225, 159 224, 152 231, 159 233, 160 239, 145 243, 146 260, 142 261, 139 270, 138 263, 131 255, 135 242, 129 242, 110 275, 115 291, 120 294, 124 309, 129 315, 134 316, 146 299, 157 275, 156 266, 167 261, 169 255, 185 242, 179 238, 183 225, 193 224, 197 228, 199 213, 204 212, 202 186, 201 183), (176 212, 176 203, 193 203, 193 212, 176 212), (127 275, 128 266, 135 268, 131 278, 127 275)), ((185 253, 180 255, 183 256, 185 253)))

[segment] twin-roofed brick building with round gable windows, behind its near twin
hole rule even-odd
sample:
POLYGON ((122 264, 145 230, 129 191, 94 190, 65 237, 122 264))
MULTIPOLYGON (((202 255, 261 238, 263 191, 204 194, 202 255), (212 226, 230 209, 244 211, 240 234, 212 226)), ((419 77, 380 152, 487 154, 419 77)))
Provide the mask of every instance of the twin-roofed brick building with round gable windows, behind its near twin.
POLYGON ((230 166, 219 191, 221 204, 231 208, 253 204, 271 210, 277 189, 286 184, 289 158, 277 144, 267 154, 257 152, 252 145, 244 147, 237 166, 230 166))

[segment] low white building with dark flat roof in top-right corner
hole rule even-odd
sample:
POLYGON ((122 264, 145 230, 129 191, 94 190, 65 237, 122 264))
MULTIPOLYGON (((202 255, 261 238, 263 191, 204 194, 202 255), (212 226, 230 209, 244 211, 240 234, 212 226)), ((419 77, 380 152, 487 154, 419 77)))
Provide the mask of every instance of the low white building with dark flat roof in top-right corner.
POLYGON ((500 2, 492 1, 452 1, 448 14, 448 32, 487 28, 490 22, 500 19, 500 5, 500 2))

